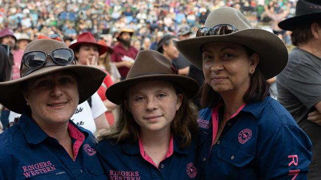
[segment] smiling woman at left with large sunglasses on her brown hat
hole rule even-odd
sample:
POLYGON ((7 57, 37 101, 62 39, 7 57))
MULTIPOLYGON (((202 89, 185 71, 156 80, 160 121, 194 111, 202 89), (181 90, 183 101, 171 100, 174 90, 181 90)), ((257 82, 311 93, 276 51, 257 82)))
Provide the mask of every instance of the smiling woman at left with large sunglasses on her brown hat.
POLYGON ((106 74, 76 65, 65 43, 38 39, 26 47, 20 75, 0 83, 0 103, 22 114, 0 134, 0 180, 105 180, 93 135, 70 118, 106 74))

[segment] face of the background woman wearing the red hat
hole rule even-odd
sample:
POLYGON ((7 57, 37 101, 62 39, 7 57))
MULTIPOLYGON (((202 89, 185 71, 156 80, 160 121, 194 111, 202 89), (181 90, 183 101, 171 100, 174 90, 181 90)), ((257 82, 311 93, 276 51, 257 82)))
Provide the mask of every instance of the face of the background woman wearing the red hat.
POLYGON ((83 44, 80 46, 79 51, 75 52, 78 63, 80 65, 86 65, 87 60, 89 62, 97 61, 99 58, 99 48, 98 46, 91 44, 83 44))

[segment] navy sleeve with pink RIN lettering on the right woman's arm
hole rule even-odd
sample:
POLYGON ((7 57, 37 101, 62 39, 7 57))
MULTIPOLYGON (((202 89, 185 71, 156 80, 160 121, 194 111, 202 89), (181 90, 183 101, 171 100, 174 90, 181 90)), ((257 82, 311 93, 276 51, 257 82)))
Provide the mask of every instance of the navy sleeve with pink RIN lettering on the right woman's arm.
POLYGON ((299 127, 282 124, 263 140, 257 152, 259 179, 307 179, 311 141, 299 127))

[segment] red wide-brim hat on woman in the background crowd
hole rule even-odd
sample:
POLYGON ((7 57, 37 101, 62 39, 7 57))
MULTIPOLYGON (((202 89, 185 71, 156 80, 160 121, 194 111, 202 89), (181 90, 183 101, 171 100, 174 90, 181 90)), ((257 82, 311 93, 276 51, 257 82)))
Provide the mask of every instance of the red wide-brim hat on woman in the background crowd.
POLYGON ((102 46, 97 43, 95 37, 92 35, 91 32, 83 32, 79 34, 79 36, 77 37, 77 42, 71 44, 69 48, 76 51, 76 50, 79 50, 80 45, 83 45, 83 44, 91 44, 91 45, 97 46, 99 51, 99 56, 106 53, 107 51, 107 48, 105 46, 102 46))

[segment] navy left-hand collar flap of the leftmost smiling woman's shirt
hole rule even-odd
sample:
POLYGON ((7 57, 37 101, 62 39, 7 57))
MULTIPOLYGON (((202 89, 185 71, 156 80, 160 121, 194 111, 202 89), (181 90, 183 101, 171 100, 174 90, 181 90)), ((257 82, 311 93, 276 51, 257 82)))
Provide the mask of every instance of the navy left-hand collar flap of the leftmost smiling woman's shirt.
POLYGON ((48 137, 36 122, 26 114, 21 115, 18 124, 29 144, 39 144, 48 137))

